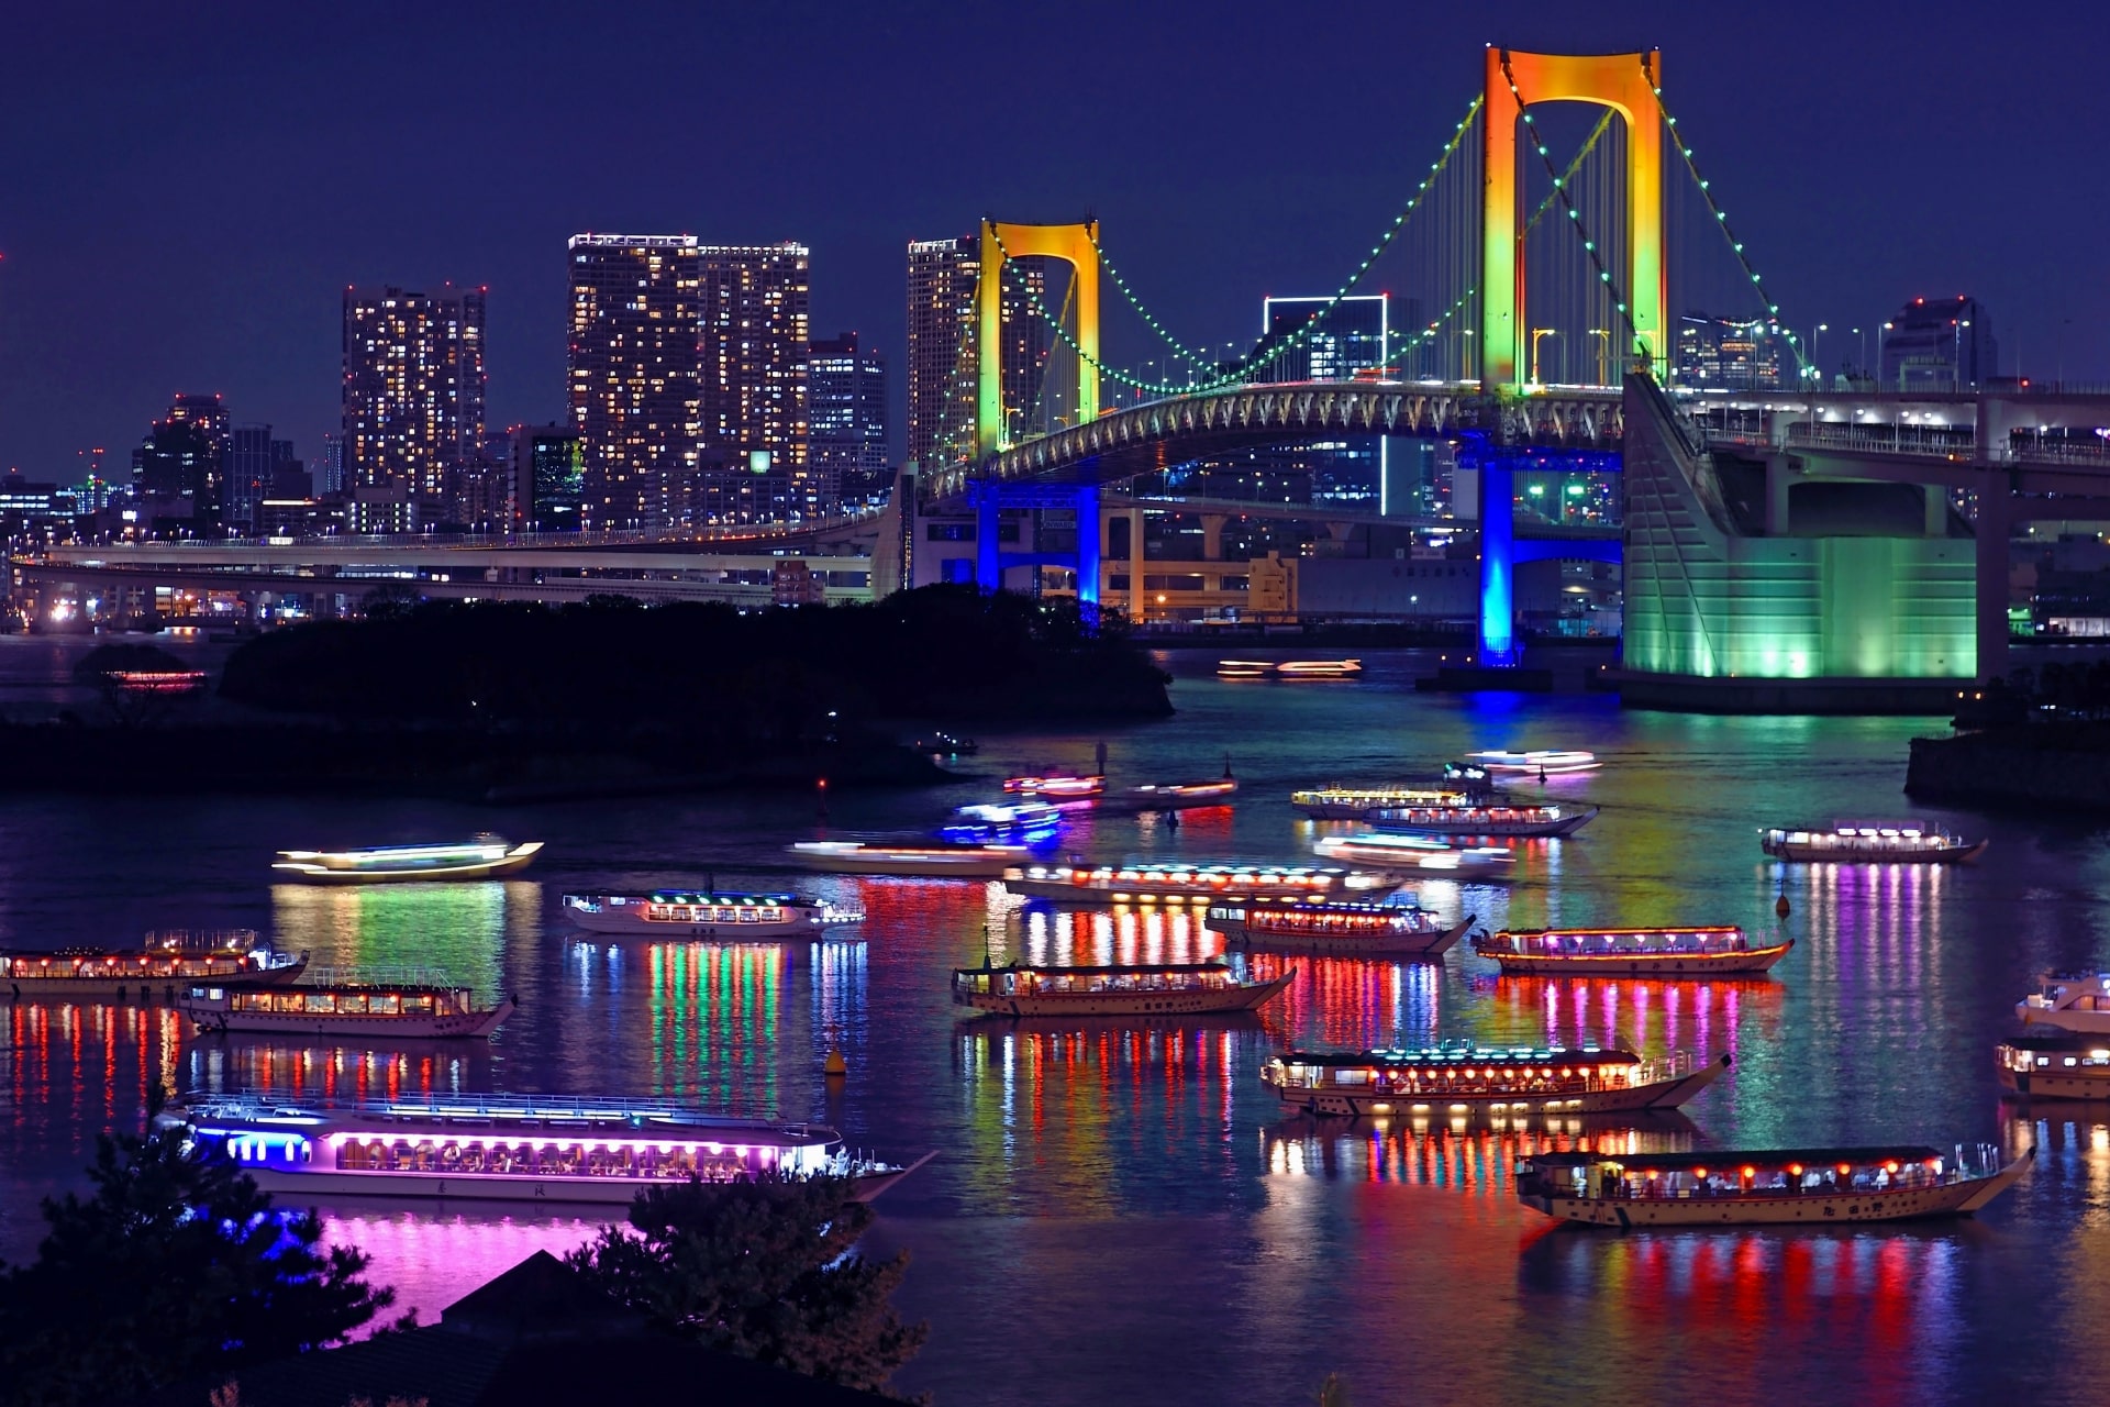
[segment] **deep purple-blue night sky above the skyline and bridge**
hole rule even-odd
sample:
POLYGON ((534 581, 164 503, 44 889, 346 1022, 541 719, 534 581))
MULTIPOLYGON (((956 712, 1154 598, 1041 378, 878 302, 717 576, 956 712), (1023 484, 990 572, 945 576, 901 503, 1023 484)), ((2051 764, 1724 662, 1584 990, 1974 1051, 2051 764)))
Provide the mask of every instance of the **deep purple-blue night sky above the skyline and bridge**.
POLYGON ((812 245, 903 338, 903 243, 1072 219, 1188 340, 1325 291, 1481 46, 1661 46, 1798 327, 1973 291, 2110 380, 2110 17, 2085 4, 36 4, 0 44, 0 466, 122 462, 175 390, 302 454, 346 283, 490 285, 492 413, 563 411, 563 238, 812 245), (1612 15, 1612 19, 1606 19, 1612 15))

